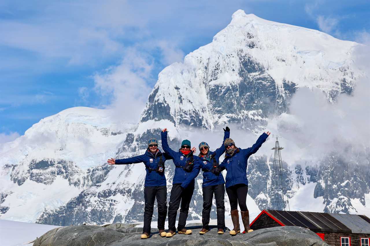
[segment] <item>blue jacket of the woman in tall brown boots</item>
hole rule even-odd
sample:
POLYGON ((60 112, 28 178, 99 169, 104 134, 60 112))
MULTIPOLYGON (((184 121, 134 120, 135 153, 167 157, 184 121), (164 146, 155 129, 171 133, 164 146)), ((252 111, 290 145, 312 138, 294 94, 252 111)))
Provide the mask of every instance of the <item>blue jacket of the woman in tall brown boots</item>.
POLYGON ((267 137, 266 133, 263 133, 257 139, 256 143, 250 148, 241 149, 238 148, 233 156, 226 153, 225 159, 220 164, 220 167, 226 168, 226 185, 228 188, 236 184, 248 185, 247 179, 247 160, 249 156, 256 153, 257 150, 265 143, 267 137))

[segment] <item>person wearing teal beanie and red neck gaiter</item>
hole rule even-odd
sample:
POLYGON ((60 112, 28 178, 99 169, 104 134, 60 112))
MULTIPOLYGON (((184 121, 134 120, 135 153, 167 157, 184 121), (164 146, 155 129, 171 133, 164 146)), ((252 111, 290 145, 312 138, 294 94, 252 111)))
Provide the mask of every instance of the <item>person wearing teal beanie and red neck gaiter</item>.
POLYGON ((179 151, 174 151, 168 146, 167 129, 161 132, 163 150, 172 158, 175 164, 175 175, 172 181, 171 195, 168 206, 168 229, 166 237, 170 238, 176 234, 176 216, 180 206, 179 222, 177 225, 179 234, 191 234, 191 230, 185 228, 188 218, 189 205, 194 192, 194 179, 199 174, 200 166, 195 164, 199 159, 193 156, 195 148, 190 149, 191 143, 185 139, 181 143, 179 151))

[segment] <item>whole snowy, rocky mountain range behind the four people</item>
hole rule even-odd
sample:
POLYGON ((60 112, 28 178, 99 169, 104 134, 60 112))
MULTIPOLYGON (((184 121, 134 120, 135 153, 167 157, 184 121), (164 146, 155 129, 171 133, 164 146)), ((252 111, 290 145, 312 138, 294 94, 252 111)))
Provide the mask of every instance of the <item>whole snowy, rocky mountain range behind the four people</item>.
MULTIPOLYGON (((0 152, 0 177, 5 184, 0 216, 63 226, 142 221, 144 165, 112 167, 104 164, 107 157, 144 153, 147 139, 160 139, 163 127, 169 129, 169 145, 174 150, 191 133, 218 134, 219 125, 260 133, 272 116, 289 114, 289 99, 302 87, 319 88, 329 102, 335 102, 340 93, 351 94, 356 79, 364 75, 353 65, 356 45, 239 10, 212 43, 159 74, 137 125, 117 125, 111 123, 107 111, 77 107, 41 120, 5 146, 0 152)), ((211 144, 213 150, 219 146, 211 144)), ((248 161, 252 198, 248 206, 254 213, 268 205, 271 154, 259 151, 248 161)), ((314 164, 310 160, 284 162, 290 209, 369 211, 366 165, 370 158, 363 154, 356 161, 356 155, 351 159, 328 153, 314 164)), ((173 175, 170 161, 166 163, 168 198, 173 175)), ((201 219, 201 184, 200 174, 189 219, 201 219)), ((211 218, 216 218, 215 207, 211 218)))

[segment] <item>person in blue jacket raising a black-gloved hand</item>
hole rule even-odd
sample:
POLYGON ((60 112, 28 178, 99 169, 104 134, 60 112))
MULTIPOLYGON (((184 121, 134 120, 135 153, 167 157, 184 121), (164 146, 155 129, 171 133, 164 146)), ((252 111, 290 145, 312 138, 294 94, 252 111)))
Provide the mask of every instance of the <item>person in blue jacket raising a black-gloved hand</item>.
POLYGON ((203 227, 199 234, 205 234, 209 231, 209 214, 211 213, 213 194, 215 195, 216 199, 217 233, 223 234, 223 230, 225 229, 225 180, 223 179, 221 170, 219 168, 218 160, 226 151, 223 142, 230 137, 230 129, 226 126, 226 129, 223 130, 225 132, 221 147, 215 151, 210 151, 209 145, 206 142, 201 142, 199 144, 199 150, 201 153, 198 155, 198 157, 201 160, 198 162, 201 163, 201 168, 203 171, 203 227))

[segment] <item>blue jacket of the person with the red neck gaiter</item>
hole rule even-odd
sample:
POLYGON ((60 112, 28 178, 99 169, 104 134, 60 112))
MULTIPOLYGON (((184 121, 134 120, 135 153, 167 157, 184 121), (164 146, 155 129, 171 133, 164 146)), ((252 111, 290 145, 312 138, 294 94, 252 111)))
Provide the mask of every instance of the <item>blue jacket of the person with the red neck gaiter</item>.
POLYGON ((172 184, 181 184, 181 187, 186 188, 188 186, 194 187, 194 179, 199 174, 200 166, 196 163, 199 160, 198 156, 193 156, 194 167, 191 172, 186 172, 182 167, 185 166, 186 161, 193 155, 192 151, 188 155, 184 155, 179 151, 174 151, 168 146, 167 142, 167 131, 161 132, 162 138, 162 148, 168 154, 172 161, 174 161, 175 166, 181 166, 175 168, 175 175, 172 184))

